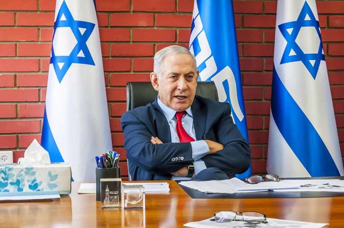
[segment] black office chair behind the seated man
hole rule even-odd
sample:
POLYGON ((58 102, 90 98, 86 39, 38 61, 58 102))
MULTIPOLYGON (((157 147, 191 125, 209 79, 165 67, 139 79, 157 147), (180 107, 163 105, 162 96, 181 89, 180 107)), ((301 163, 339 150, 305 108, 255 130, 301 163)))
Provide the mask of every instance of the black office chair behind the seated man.
MULTIPOLYGON (((153 88, 150 81, 127 82, 127 111, 153 102, 157 95, 158 91, 153 88)), ((218 101, 217 89, 214 81, 197 82, 196 95, 218 101)), ((131 181, 129 159, 127 159, 127 162, 129 181, 131 181)))

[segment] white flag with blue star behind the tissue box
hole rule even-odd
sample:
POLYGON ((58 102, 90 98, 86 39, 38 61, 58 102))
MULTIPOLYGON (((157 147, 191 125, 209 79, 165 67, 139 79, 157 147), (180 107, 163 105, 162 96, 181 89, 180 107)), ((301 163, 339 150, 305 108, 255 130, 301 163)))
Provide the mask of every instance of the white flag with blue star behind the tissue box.
POLYGON ((52 162, 95 180, 95 155, 112 151, 93 0, 57 0, 42 131, 52 162))

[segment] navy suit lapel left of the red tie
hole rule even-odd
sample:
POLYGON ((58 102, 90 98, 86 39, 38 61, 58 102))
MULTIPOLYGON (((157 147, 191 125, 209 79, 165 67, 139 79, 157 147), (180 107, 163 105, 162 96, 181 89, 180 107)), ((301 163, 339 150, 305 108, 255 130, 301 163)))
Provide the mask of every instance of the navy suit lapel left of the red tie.
POLYGON ((156 114, 154 125, 157 135, 155 136, 157 136, 163 143, 171 143, 170 125, 166 119, 165 114, 158 105, 157 97, 155 98, 155 101, 152 103, 152 105, 156 114))

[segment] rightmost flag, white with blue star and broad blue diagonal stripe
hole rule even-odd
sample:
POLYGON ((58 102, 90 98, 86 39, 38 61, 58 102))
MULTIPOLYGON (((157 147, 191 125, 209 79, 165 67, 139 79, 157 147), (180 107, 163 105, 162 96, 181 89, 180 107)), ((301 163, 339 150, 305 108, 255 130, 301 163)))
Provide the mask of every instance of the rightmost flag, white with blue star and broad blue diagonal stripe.
POLYGON ((278 0, 267 171, 344 175, 315 0, 278 0))

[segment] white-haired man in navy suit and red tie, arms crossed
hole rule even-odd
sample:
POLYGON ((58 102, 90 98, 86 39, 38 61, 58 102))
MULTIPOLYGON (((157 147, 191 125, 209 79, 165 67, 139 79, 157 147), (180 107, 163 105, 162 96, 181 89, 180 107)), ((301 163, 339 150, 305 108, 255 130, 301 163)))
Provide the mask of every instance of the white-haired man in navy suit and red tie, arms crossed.
POLYGON ((195 96, 198 74, 184 47, 155 54, 150 79, 158 96, 121 118, 131 180, 225 179, 249 168, 230 105, 195 96))

